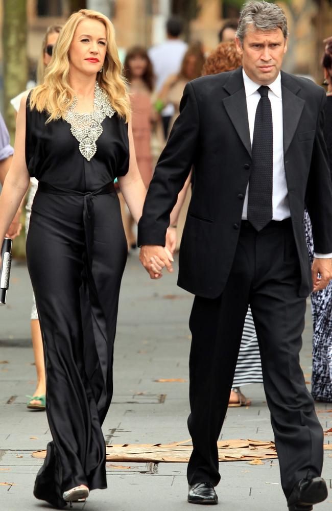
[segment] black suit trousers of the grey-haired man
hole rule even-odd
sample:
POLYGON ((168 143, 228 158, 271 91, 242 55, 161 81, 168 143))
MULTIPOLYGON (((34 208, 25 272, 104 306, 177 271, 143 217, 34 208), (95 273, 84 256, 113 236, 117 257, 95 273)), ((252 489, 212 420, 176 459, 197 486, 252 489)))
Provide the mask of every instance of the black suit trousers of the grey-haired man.
MULTIPOLYGON (((211 260, 211 265, 222 262, 211 260)), ((299 364, 306 300, 299 297, 300 266, 291 220, 257 231, 243 221, 224 292, 195 297, 189 326, 191 414, 194 450, 188 482, 218 484, 217 441, 225 419, 248 309, 256 327, 264 388, 278 452, 281 484, 320 475, 323 431, 299 364)))

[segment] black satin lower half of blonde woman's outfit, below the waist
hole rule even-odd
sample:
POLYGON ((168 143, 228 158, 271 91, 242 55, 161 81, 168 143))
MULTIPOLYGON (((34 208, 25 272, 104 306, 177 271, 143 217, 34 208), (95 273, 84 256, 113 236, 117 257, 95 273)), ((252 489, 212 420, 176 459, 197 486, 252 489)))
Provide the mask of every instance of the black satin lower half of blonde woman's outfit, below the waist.
POLYGON ((62 507, 62 492, 74 486, 107 485, 101 426, 113 392, 127 245, 116 193, 44 189, 34 199, 27 257, 43 335, 53 442, 35 495, 62 507))

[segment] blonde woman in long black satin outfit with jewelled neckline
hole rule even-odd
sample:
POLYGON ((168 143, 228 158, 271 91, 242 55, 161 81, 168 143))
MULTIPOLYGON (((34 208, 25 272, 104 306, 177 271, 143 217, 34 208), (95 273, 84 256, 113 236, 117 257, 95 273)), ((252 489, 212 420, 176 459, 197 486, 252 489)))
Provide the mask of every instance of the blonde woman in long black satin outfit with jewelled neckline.
MULTIPOLYGON (((34 495, 64 507, 106 487, 101 426, 112 398, 113 342, 127 243, 113 180, 137 222, 146 190, 133 145, 114 30, 94 11, 64 25, 42 84, 23 97, 0 197, 0 240, 29 179, 38 190, 28 268, 45 350, 53 436, 34 495)), ((160 271, 158 261, 151 271, 160 271)))

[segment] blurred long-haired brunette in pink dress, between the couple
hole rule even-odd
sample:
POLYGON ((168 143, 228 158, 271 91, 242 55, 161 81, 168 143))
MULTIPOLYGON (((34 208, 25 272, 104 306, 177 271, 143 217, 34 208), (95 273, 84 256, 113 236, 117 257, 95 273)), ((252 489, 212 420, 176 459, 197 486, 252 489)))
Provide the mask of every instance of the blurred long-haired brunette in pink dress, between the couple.
MULTIPOLYGON (((134 46, 128 50, 124 62, 124 75, 128 82, 136 161, 141 178, 148 189, 153 172, 151 129, 152 123, 157 121, 157 114, 153 108, 155 77, 152 62, 145 48, 134 46)), ((136 247, 134 219, 121 192, 118 196, 129 252, 131 248, 136 247)))

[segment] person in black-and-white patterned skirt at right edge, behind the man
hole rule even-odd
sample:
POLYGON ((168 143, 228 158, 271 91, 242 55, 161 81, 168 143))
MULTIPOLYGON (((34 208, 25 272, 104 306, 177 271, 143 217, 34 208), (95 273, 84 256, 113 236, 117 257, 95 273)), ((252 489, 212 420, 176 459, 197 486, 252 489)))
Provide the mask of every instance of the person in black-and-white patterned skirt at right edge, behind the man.
MULTIPOLYGON (((322 58, 324 82, 327 85, 324 137, 332 179, 332 37, 325 41, 322 58)), ((305 213, 305 234, 311 259, 313 236, 309 215, 305 213)), ((312 395, 316 401, 332 402, 332 282, 322 291, 311 293, 313 313, 312 395)))

